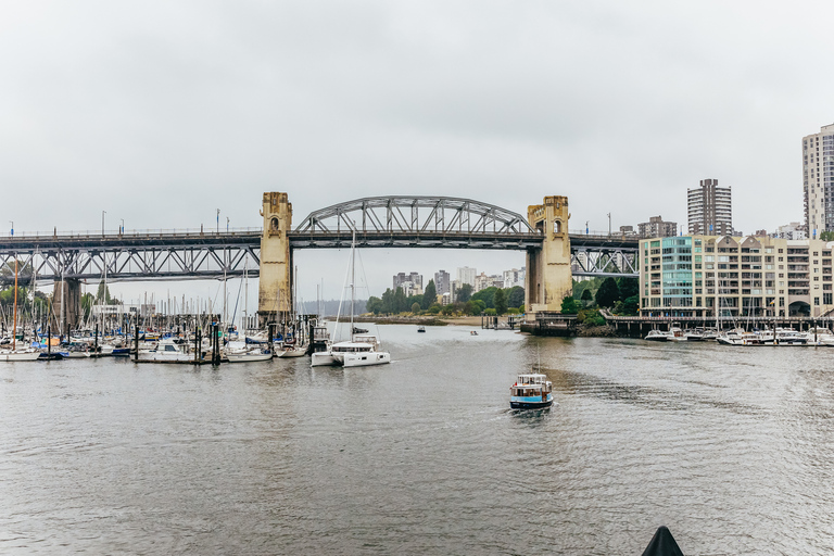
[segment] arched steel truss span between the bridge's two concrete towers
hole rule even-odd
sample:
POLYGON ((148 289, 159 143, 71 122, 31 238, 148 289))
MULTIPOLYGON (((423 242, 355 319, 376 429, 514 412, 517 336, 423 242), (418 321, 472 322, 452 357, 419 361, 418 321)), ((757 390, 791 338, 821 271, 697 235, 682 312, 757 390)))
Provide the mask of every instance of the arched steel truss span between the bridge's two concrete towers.
POLYGON ((452 249, 539 248, 542 233, 518 213, 471 199, 368 197, 307 215, 290 232, 294 249, 350 245, 452 249))

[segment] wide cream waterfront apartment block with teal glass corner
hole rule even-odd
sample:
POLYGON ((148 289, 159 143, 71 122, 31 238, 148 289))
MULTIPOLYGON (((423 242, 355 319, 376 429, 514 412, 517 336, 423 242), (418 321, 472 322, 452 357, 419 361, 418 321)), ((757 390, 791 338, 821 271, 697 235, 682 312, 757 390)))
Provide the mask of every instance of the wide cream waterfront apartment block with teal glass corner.
POLYGON ((833 245, 753 236, 641 240, 641 315, 827 316, 833 245))

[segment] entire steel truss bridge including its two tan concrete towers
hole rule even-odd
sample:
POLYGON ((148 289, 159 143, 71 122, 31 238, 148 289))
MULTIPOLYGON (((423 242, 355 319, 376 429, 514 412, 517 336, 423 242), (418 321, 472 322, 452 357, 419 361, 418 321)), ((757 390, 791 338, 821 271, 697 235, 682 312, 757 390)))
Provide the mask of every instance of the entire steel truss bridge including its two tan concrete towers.
POLYGON ((545 198, 527 218, 469 199, 375 197, 314 211, 293 229, 287 193, 264 193, 261 228, 17 233, 0 239, 0 283, 53 281, 56 296, 79 298, 80 280, 184 280, 260 276, 263 320, 291 306, 298 249, 428 248, 527 253, 527 299, 533 311, 557 309, 572 276, 637 276, 633 236, 568 232, 568 201, 545 198))

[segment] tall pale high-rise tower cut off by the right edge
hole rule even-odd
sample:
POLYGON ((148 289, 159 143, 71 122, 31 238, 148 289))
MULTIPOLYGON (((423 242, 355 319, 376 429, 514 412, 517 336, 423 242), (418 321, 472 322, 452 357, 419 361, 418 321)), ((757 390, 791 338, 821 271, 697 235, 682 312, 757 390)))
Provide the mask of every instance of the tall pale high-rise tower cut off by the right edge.
POLYGON ((834 231, 834 124, 803 137, 805 232, 834 231))

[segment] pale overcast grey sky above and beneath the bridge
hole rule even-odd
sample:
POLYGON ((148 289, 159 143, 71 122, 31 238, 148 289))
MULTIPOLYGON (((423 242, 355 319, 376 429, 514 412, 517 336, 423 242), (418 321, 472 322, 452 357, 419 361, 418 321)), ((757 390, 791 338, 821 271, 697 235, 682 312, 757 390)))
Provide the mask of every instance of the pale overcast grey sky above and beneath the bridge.
MULTIPOLYGON (((800 141, 834 123, 830 2, 0 0, 2 226, 260 226, 361 197, 469 198, 571 229, 686 223, 733 191, 745 232, 801 222, 800 141), (8 223, 8 224, 7 224, 8 223)), ((346 252, 300 252, 338 296, 346 252)), ((517 252, 369 250, 397 271, 517 252)), ((194 282, 122 285, 188 294, 194 282)), ((216 283, 199 288, 216 289, 216 283)), ((118 288, 116 288, 118 290, 118 288)))

